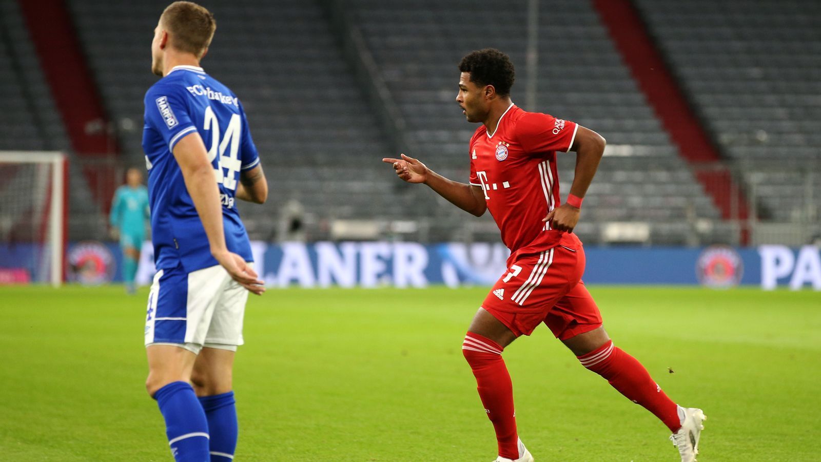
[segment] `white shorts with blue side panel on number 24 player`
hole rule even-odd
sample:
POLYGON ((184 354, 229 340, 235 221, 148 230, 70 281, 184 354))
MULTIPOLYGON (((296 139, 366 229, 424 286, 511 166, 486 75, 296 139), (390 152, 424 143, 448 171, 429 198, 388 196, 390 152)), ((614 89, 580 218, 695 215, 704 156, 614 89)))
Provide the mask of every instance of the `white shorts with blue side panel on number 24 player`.
MULTIPOLYGON (((253 266, 253 263, 249 263, 253 266)), ((186 273, 159 270, 145 316, 145 346, 173 344, 200 353, 204 346, 236 351, 248 290, 222 266, 186 273)))

